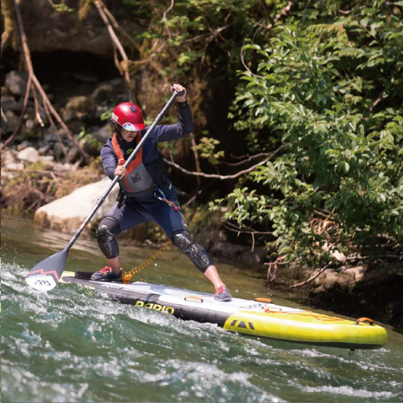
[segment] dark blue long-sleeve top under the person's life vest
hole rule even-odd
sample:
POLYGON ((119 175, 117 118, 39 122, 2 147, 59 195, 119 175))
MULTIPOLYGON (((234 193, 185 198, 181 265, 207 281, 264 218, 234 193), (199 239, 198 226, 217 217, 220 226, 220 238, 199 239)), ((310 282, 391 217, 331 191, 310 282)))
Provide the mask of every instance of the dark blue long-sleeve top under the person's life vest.
MULTIPOLYGON (((156 126, 150 136, 147 138, 143 145, 143 164, 147 165, 152 161, 157 161, 160 151, 158 150, 157 143, 181 139, 188 136, 193 131, 193 118, 187 102, 178 102, 179 106, 179 123, 170 125, 156 126)), ((142 138, 146 134, 148 128, 141 130, 142 138)), ((131 152, 137 146, 136 138, 131 142, 121 142, 120 149, 122 150, 124 159, 130 156, 131 152)), ((117 167, 117 156, 112 146, 112 138, 109 138, 101 149, 102 165, 105 174, 113 179, 115 176, 115 169, 117 167)))

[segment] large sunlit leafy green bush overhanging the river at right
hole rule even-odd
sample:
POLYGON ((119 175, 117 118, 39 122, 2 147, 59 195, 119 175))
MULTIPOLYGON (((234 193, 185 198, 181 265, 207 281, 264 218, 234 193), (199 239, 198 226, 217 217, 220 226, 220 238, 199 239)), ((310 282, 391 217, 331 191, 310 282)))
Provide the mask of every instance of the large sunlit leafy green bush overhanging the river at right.
POLYGON ((230 114, 250 151, 286 147, 228 195, 224 219, 266 223, 267 247, 301 265, 403 249, 402 13, 383 0, 343 16, 333 5, 316 2, 264 46, 248 42, 256 75, 239 73, 230 114))

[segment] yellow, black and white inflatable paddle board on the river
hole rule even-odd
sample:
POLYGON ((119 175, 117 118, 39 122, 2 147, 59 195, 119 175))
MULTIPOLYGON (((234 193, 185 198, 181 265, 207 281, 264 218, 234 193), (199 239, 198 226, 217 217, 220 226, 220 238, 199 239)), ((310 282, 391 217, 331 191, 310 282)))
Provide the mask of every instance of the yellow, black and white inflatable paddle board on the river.
POLYGON ((386 330, 368 318, 346 320, 276 305, 265 298, 218 302, 213 294, 142 282, 96 282, 88 280, 90 275, 64 272, 61 282, 90 287, 124 304, 273 340, 346 349, 378 349, 387 342, 386 330))

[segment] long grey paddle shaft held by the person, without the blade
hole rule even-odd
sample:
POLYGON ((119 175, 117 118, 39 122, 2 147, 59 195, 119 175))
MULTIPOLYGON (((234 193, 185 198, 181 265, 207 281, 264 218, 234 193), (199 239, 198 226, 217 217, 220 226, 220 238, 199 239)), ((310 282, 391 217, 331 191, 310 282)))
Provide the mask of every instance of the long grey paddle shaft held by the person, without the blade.
MULTIPOLYGON (((165 114, 165 112, 168 110, 168 108, 170 107, 171 103, 174 101, 174 99, 178 96, 178 95, 183 95, 183 92, 177 92, 174 91, 174 93, 172 94, 171 98, 169 99, 169 101, 167 102, 167 104, 164 106, 164 108, 162 109, 162 111, 158 114, 158 116, 155 118, 153 124, 150 126, 150 128, 147 130, 147 133, 143 136, 143 139, 140 140, 140 143, 137 145, 137 147, 135 148, 135 150, 133 150, 133 152, 130 154, 130 157, 127 158, 126 162, 124 163, 124 167, 127 168, 130 164, 130 162, 136 157, 136 154, 139 152, 139 150, 143 147, 144 142, 147 140, 147 138, 149 137, 149 135, 151 134, 151 132, 154 130, 155 126, 160 122, 160 120, 162 119, 163 115, 165 114)), ((83 232, 84 228, 87 226, 87 224, 89 223, 89 221, 94 217, 94 214, 96 213, 96 211, 100 208, 100 206, 102 205, 102 203, 105 201, 106 196, 110 193, 110 191, 112 190, 113 186, 115 186, 115 184, 119 181, 120 176, 116 175, 112 182, 110 183, 110 185, 108 186, 108 188, 103 192, 103 194, 98 198, 97 203, 95 204, 94 208, 92 209, 91 213, 88 215, 88 217, 84 220, 83 224, 81 224, 79 230, 74 234, 73 238, 70 240, 70 242, 68 243, 68 245, 65 247, 65 249, 69 250, 73 244, 77 241, 78 237, 80 236, 80 234, 83 232)))

